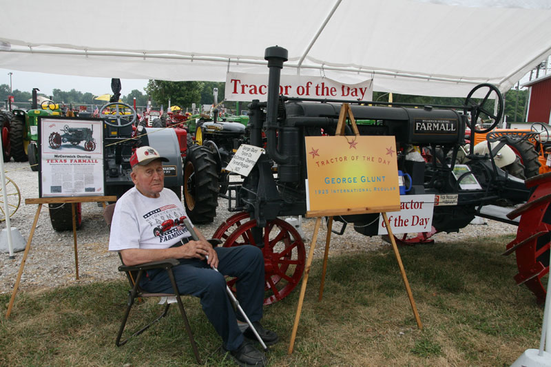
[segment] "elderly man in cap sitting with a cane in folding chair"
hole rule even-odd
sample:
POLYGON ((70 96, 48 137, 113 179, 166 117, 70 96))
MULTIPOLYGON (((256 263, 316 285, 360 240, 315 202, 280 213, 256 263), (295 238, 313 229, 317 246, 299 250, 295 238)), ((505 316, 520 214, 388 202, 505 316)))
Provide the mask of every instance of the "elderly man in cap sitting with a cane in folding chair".
MULTIPOLYGON (((176 258, 174 276, 180 293, 200 297, 205 315, 222 338, 222 348, 239 366, 264 366, 264 353, 253 346, 253 331, 236 317, 226 294, 224 275, 238 277, 237 299, 267 345, 278 342, 278 335, 260 324, 264 301, 264 258, 258 247, 219 247, 213 249, 205 236, 194 228, 199 239, 180 221, 187 216, 182 202, 164 188, 162 162, 167 162, 152 147, 140 147, 130 158, 134 187, 118 199, 111 224, 110 251, 120 251, 126 265, 176 258), (174 226, 160 226, 174 220, 174 226), (208 256, 208 260, 205 261, 208 256), (211 269, 218 268, 220 273, 211 269)), ((148 292, 170 293, 168 275, 149 270, 140 286, 148 292)))

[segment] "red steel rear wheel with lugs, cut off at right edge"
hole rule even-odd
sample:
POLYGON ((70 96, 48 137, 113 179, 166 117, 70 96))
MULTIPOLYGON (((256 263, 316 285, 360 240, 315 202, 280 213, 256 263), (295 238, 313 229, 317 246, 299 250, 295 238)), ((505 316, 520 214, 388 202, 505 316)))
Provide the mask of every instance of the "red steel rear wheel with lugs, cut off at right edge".
POLYGON ((527 187, 534 187, 528 202, 508 214, 508 218, 521 216, 517 238, 507 245, 503 255, 515 252, 519 273, 514 276, 517 284, 526 284, 537 297, 545 302, 549 273, 551 239, 551 173, 526 180, 527 187))

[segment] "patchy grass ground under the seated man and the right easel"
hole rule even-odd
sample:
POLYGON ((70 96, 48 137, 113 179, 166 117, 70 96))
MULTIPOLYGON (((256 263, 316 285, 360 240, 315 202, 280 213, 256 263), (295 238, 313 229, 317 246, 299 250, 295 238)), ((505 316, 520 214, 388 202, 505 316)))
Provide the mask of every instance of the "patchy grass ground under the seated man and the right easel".
MULTIPOLYGON (((392 249, 330 258, 322 302, 322 263, 314 262, 292 355, 287 348, 300 286, 264 308, 264 326, 280 335, 270 366, 510 366, 527 348, 538 348, 543 308, 514 283, 514 255, 499 255, 509 241, 400 248, 422 331, 392 249)), ((10 319, 0 318, 0 365, 194 365, 176 308, 127 345, 114 345, 126 293, 123 280, 19 292, 10 319)), ((2 315, 9 298, 0 297, 2 315)), ((220 338, 198 300, 185 297, 184 303, 205 366, 232 366, 218 354, 220 338)), ((135 307, 129 327, 158 307, 135 307)))

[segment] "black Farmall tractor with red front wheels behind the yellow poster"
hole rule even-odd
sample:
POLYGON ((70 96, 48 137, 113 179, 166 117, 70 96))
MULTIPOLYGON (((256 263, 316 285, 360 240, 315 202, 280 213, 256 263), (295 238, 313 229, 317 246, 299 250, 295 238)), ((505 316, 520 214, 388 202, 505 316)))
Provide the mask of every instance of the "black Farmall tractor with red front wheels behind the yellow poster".
MULTIPOLYGON (((269 67, 268 98, 265 103, 253 101, 249 105, 248 128, 250 144, 257 147, 264 145, 265 133, 266 154, 260 156, 251 174, 240 184, 230 185, 229 209, 238 213, 222 223, 214 237, 222 239, 225 247, 254 244, 262 249, 267 292, 264 304, 271 304, 289 295, 304 271, 304 242, 291 224, 280 219, 306 213, 304 137, 334 135, 343 101, 278 96, 280 70, 287 61, 287 50, 267 48, 265 59, 269 67)), ((468 169, 460 176, 454 174, 458 151, 465 144, 466 126, 471 134, 489 132, 503 114, 503 98, 493 85, 475 87, 464 105, 459 106, 345 102, 351 105, 356 120, 373 121, 357 125, 361 135, 395 136, 397 167, 412 180, 408 194, 448 194, 457 198, 451 205, 435 206, 433 231, 421 233, 411 243, 424 242, 437 232, 459 231, 475 216, 510 222, 482 213, 481 209, 503 199, 512 203, 528 200, 529 190, 523 180, 499 169, 491 156, 474 154, 472 145, 465 163, 468 169), (490 97, 495 97, 497 113, 493 112, 494 101, 490 97), (471 126, 469 121, 477 121, 479 117, 491 119, 492 125, 488 129, 471 126), (408 160, 412 149, 424 159, 408 160), (476 178, 479 187, 462 185, 471 178, 476 178)), ((345 134, 352 135, 351 129, 345 134)), ((343 223, 339 234, 344 233, 346 224, 353 224, 355 231, 371 236, 377 235, 378 217, 378 213, 367 213, 337 216, 335 220, 343 223)), ((408 239, 404 238, 404 242, 408 239)), ((523 256, 534 263, 539 262, 535 260, 537 256, 548 259, 548 251, 547 240, 523 256)), ((548 269, 548 266, 546 261, 541 267, 548 269)))

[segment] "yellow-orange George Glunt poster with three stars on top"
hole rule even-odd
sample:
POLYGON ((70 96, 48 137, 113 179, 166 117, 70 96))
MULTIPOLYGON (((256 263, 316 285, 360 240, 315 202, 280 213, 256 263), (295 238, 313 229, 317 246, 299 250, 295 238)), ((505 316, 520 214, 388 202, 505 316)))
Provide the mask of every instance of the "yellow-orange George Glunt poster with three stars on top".
POLYGON ((306 136, 306 216, 398 211, 394 136, 306 136))

